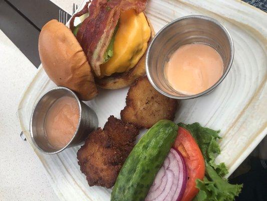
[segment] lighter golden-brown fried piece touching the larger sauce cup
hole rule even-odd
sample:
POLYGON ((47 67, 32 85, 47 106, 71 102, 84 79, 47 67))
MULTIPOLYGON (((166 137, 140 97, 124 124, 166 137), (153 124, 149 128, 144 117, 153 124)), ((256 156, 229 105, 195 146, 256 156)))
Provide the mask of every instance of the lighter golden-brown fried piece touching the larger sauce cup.
POLYGON ((138 128, 149 129, 159 120, 173 121, 176 108, 177 101, 159 93, 145 76, 129 88, 121 119, 138 128))

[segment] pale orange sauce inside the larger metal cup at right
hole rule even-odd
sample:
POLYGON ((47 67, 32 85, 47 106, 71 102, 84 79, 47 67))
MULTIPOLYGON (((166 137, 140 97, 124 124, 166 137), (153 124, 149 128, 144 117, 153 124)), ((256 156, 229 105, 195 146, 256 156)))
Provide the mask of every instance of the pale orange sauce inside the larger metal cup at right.
POLYGON ((203 92, 220 79, 223 61, 220 54, 208 45, 182 45, 170 56, 164 73, 172 88, 193 95, 203 92))

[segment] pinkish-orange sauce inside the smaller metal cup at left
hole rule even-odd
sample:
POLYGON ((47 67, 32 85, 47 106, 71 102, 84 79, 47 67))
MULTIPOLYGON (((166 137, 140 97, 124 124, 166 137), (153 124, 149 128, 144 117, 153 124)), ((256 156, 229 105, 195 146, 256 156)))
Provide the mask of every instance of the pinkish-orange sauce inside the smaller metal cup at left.
POLYGON ((76 99, 61 97, 51 106, 46 115, 46 137, 56 148, 66 146, 72 139, 79 122, 79 107, 76 99))

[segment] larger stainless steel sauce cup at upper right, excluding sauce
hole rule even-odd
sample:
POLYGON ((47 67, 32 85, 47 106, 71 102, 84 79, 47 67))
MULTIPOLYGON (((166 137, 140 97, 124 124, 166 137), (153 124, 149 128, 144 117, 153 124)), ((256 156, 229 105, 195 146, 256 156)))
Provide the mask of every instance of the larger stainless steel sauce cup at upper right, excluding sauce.
POLYGON ((156 90, 176 99, 190 99, 207 94, 227 75, 233 60, 233 41, 217 20, 192 15, 176 19, 163 27, 150 43, 146 54, 146 74, 156 90), (191 43, 206 44, 217 50, 223 61, 221 78, 207 90, 186 95, 174 90, 164 76, 164 65, 179 46, 191 43))

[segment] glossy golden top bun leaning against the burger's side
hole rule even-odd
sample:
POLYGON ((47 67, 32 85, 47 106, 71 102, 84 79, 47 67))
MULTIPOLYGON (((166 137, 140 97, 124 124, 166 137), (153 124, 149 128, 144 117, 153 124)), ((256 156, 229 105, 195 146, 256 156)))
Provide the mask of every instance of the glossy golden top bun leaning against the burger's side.
POLYGON ((97 95, 86 55, 67 26, 57 20, 49 21, 39 36, 39 54, 46 73, 57 85, 74 90, 82 100, 97 95))

